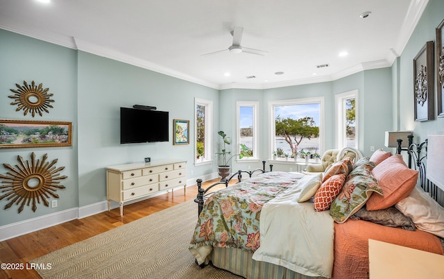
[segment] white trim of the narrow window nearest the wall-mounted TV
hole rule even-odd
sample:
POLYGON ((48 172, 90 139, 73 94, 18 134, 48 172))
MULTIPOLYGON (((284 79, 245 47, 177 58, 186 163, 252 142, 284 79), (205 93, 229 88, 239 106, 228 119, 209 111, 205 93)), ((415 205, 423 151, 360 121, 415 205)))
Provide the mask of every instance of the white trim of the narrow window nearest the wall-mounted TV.
POLYGON ((194 164, 210 164, 212 163, 212 123, 213 123, 213 101, 194 98, 194 164), (197 152, 196 152, 196 144, 197 144, 197 116, 196 116, 196 106, 204 105, 205 106, 205 156, 201 162, 196 160, 197 152))

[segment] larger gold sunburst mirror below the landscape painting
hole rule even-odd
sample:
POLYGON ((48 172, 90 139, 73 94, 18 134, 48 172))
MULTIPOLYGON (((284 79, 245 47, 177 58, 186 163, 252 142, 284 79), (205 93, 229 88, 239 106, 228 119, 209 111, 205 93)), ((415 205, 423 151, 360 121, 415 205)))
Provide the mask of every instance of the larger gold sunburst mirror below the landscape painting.
POLYGON ((46 162, 48 154, 43 155, 42 162, 40 160, 35 161, 35 154, 31 153, 31 162, 23 160, 22 156, 17 156, 19 165, 15 165, 15 168, 10 164, 3 164, 4 167, 10 169, 7 175, 0 174, 0 178, 3 178, 0 185, 1 193, 5 193, 0 196, 0 201, 3 198, 7 198, 10 201, 5 205, 4 209, 10 208, 14 203, 20 205, 19 213, 22 212, 24 206, 29 206, 31 201, 33 203, 33 211, 37 210, 37 203, 40 203, 40 199, 45 206, 49 206, 49 202, 46 198, 59 198, 55 192, 57 189, 65 189, 65 186, 59 185, 62 179, 67 176, 60 176, 59 172, 65 169, 65 167, 56 168, 54 165, 58 161, 53 160, 51 163, 46 162))

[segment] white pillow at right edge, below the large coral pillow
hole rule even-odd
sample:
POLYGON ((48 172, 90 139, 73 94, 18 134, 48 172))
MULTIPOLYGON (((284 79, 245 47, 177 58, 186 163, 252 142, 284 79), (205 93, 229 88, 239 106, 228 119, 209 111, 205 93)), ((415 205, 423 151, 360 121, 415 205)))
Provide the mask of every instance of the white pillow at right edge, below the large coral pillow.
POLYGON ((395 208, 410 217, 418 229, 444 237, 444 208, 422 188, 413 188, 407 198, 395 204, 395 208))

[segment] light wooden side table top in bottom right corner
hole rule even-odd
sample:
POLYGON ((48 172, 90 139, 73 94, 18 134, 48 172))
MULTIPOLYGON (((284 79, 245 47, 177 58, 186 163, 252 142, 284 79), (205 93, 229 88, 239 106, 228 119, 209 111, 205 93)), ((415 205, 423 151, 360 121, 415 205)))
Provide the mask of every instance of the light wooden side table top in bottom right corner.
POLYGON ((444 255, 368 239, 370 279, 444 278, 444 255))

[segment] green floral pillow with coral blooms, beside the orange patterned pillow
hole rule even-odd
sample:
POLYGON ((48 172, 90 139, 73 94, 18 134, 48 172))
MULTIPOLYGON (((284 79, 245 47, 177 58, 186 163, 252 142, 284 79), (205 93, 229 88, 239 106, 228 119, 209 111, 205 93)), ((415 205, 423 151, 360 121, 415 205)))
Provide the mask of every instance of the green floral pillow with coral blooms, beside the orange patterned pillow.
POLYGON ((330 215, 336 223, 347 221, 366 204, 373 192, 382 194, 376 178, 372 176, 373 167, 375 164, 367 160, 348 175, 344 187, 330 207, 330 215))

